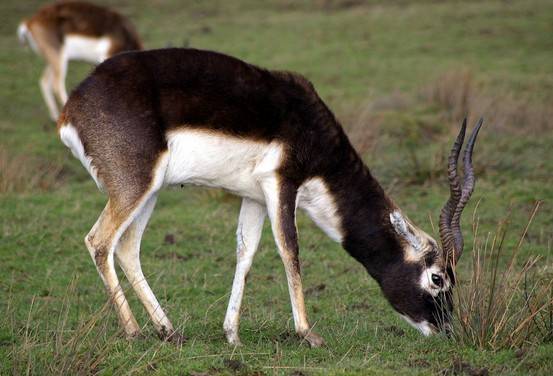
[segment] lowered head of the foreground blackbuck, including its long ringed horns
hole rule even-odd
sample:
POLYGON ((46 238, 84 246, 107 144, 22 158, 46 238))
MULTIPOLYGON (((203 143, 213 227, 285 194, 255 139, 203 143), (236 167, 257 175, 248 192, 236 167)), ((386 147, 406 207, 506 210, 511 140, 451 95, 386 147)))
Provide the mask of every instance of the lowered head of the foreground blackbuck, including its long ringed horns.
POLYGON ((463 253, 461 214, 474 189, 472 152, 482 119, 465 146, 464 176, 457 174, 457 162, 465 139, 466 119, 448 159, 450 196, 439 221, 441 247, 413 225, 399 210, 390 213, 390 223, 403 253, 381 279, 382 290, 392 306, 424 335, 450 328, 455 285, 455 265, 463 253))

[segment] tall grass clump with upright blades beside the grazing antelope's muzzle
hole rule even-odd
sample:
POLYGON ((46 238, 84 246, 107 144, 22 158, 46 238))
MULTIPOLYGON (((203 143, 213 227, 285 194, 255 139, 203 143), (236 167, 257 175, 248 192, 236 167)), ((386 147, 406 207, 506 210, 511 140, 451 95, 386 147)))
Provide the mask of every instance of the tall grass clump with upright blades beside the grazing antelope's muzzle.
POLYGON ((486 237, 479 236, 478 221, 473 220, 470 277, 455 289, 453 338, 462 345, 498 350, 553 339, 551 270, 536 256, 520 260, 539 206, 537 202, 514 247, 506 246, 512 234, 509 217, 486 237))

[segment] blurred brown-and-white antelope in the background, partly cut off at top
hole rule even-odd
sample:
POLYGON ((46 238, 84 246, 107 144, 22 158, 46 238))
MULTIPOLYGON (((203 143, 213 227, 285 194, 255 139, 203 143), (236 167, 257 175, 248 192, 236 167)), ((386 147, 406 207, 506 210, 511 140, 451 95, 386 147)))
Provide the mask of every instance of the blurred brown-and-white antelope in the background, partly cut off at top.
POLYGON ((47 5, 17 29, 21 43, 28 43, 44 60, 40 79, 50 117, 56 121, 67 102, 65 76, 70 60, 99 64, 116 53, 142 49, 142 42, 128 19, 113 10, 82 1, 47 5))

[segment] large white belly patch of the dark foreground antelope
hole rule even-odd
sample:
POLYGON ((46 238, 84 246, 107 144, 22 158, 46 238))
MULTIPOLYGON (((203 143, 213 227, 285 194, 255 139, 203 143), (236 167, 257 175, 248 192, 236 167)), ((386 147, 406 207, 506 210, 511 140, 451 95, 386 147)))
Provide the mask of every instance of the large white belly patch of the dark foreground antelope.
POLYGON ((267 170, 274 171, 280 165, 280 156, 271 158, 272 154, 280 151, 275 144, 203 130, 169 132, 167 144, 169 165, 165 184, 218 187, 260 202, 264 202, 258 183, 260 167, 269 172, 267 170))

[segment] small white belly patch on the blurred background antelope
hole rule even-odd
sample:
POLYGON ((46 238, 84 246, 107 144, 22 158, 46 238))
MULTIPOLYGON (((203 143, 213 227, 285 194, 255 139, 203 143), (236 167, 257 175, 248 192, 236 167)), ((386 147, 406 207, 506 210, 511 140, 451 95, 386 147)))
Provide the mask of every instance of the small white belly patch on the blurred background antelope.
POLYGON ((111 40, 108 37, 66 35, 63 43, 66 60, 83 60, 93 64, 99 64, 107 59, 110 48, 111 40))

